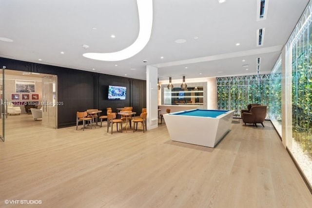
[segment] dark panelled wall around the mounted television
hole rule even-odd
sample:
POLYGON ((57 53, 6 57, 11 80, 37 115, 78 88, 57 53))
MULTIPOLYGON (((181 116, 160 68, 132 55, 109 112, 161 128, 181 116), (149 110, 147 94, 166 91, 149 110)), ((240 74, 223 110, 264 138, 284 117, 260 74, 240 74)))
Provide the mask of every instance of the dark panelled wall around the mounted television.
POLYGON ((76 112, 87 109, 99 109, 106 114, 106 108, 132 106, 137 115, 146 108, 146 81, 121 76, 104 75, 93 72, 50 66, 26 61, 1 58, 0 67, 6 69, 57 75, 58 101, 64 102, 58 106, 58 128, 75 126, 76 112), (108 100, 108 85, 127 87, 125 100, 108 100))

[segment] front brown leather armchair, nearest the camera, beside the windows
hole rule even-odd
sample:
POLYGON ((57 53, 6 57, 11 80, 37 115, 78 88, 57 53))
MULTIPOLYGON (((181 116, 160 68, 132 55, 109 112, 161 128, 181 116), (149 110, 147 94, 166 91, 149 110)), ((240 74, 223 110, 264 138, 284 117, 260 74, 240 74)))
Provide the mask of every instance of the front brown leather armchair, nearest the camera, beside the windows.
POLYGON ((242 112, 242 119, 245 125, 247 123, 254 124, 257 127, 257 123, 261 123, 263 125, 263 121, 267 115, 267 106, 265 105, 257 105, 251 107, 249 113, 242 112))

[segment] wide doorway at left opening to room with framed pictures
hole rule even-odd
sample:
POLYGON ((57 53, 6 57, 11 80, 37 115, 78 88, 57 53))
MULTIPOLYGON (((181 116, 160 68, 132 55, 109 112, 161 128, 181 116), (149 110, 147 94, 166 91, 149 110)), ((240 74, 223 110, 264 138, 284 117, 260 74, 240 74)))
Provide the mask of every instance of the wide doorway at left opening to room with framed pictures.
POLYGON ((34 128, 43 126, 57 129, 57 76, 10 69, 0 70, 1 141, 5 141, 6 135, 13 131, 10 120, 14 120, 14 126, 18 126, 19 120, 25 122, 27 119, 30 125, 34 125, 34 128), (35 103, 34 108, 42 111, 42 119, 33 119, 31 111, 25 108, 25 105, 29 103, 35 103), (8 113, 7 109, 12 107, 19 111, 8 113))

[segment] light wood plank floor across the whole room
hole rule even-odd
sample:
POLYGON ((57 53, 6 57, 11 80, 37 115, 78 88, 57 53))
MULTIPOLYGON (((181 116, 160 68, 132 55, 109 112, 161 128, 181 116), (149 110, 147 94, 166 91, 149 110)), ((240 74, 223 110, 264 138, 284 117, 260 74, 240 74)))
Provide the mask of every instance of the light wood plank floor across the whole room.
POLYGON ((270 121, 265 128, 233 123, 215 149, 171 142, 165 124, 145 133, 111 135, 106 126, 83 132, 76 126, 47 129, 40 123, 26 114, 7 119, 6 141, 0 142, 0 207, 312 205, 312 195, 270 121), (5 199, 42 203, 5 205, 5 199))

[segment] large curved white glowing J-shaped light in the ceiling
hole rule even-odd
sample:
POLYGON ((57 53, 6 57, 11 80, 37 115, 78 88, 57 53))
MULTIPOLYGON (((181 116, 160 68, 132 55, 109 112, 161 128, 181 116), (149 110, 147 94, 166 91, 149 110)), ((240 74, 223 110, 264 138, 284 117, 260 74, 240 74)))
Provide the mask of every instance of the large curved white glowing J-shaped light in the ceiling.
POLYGON ((153 0, 138 0, 137 12, 139 19, 139 32, 134 43, 117 52, 85 53, 82 56, 102 61, 119 61, 133 57, 139 53, 151 38, 153 27, 153 0))

